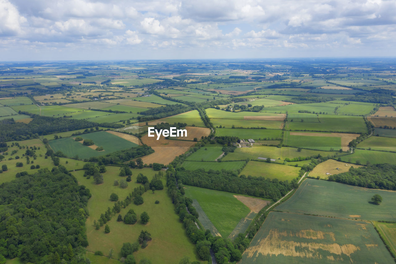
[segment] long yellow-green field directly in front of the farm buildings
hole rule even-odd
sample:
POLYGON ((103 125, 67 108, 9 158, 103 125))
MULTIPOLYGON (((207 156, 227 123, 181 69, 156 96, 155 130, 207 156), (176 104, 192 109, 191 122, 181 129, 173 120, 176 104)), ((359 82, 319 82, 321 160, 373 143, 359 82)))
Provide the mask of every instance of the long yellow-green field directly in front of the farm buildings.
MULTIPOLYGON (((268 142, 269 140, 262 141, 263 143, 268 142)), ((260 142, 261 143, 261 142, 260 142)), ((296 157, 311 157, 313 155, 322 155, 323 157, 327 157, 328 155, 334 155, 337 153, 336 151, 320 151, 320 150, 312 150, 312 149, 301 149, 301 151, 297 151, 295 147, 272 147, 272 146, 261 146, 261 145, 253 145, 253 147, 238 147, 234 152, 230 152, 223 158, 223 161, 234 161, 234 160, 257 160, 257 157, 268 158, 271 159, 293 159, 296 157)), ((303 161, 301 161, 302 163, 303 161)))

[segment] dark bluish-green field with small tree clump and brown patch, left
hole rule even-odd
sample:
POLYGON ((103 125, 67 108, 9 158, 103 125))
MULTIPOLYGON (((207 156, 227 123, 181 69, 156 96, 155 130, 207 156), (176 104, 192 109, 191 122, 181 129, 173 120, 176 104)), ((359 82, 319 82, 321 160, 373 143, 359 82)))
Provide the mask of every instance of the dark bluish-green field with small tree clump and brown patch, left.
POLYGON ((89 157, 96 157, 106 155, 108 153, 127 149, 130 147, 136 147, 135 143, 124 140, 113 134, 100 131, 88 134, 80 135, 83 139, 91 139, 95 145, 103 146, 103 151, 96 151, 88 146, 83 145, 80 142, 76 142, 73 138, 59 138, 57 140, 50 140, 49 146, 53 151, 62 151, 67 157, 74 157, 78 155, 81 159, 88 159, 89 157))

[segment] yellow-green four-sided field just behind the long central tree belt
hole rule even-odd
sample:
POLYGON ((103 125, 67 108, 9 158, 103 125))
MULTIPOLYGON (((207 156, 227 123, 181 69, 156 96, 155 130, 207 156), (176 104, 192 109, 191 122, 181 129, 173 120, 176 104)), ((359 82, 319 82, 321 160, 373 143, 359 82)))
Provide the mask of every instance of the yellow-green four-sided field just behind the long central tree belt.
POLYGON ((297 178, 299 170, 299 167, 263 161, 249 161, 240 175, 291 181, 297 178))

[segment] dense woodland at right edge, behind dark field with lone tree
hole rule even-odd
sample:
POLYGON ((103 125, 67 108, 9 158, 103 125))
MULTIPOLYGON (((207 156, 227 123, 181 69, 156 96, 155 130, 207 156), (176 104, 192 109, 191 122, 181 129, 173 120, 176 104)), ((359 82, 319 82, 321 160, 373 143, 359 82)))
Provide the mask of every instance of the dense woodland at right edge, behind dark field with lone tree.
POLYGON ((329 181, 373 189, 396 190, 396 165, 375 164, 330 175, 329 181))

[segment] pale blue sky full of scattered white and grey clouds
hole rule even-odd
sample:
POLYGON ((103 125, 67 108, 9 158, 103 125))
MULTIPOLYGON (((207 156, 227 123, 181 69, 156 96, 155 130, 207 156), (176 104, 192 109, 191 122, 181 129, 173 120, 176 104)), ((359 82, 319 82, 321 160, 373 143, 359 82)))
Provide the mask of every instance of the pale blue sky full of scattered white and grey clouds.
POLYGON ((396 55, 396 0, 0 0, 0 61, 396 55))

